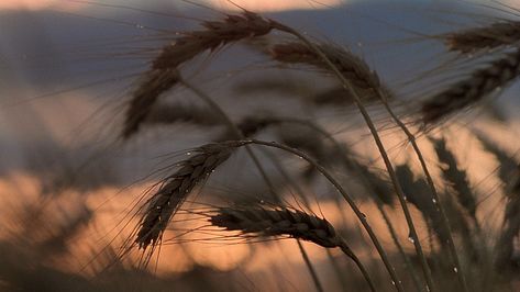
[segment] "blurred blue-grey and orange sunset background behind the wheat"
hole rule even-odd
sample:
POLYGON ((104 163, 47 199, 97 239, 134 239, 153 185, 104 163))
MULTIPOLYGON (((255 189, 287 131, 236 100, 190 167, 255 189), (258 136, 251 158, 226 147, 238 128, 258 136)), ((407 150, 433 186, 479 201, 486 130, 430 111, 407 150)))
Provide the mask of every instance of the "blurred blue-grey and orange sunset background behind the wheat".
MULTIPOLYGON (((507 10, 505 5, 487 1, 234 2, 264 12, 309 35, 348 46, 377 69, 381 79, 405 101, 412 102, 431 94, 424 85, 438 85, 445 78, 444 72, 458 70, 451 67, 453 56, 445 54, 442 43, 428 35, 471 27, 495 16, 516 18, 499 11, 507 10), (428 70, 439 66, 439 70, 428 70)), ((63 281, 64 287, 70 283, 89 287, 87 278, 81 277, 99 270, 102 260, 111 258, 112 249, 129 236, 130 231, 119 231, 128 220, 124 216, 132 214, 130 207, 134 200, 167 173, 154 171, 181 159, 189 147, 208 142, 208 136, 214 134, 181 124, 150 128, 124 146, 115 138, 132 85, 139 74, 146 70, 147 60, 156 54, 156 48, 176 32, 197 27, 193 19, 218 19, 219 11, 236 11, 236 7, 225 0, 195 3, 0 1, 0 217, 4 222, 0 228, 0 238, 3 238, 0 257, 5 254, 21 259, 16 266, 14 259, 4 257, 4 262, 0 262, 4 267, 0 270, 4 272, 5 267, 12 270, 4 277, 23 279, 30 274, 37 279, 52 274, 46 280, 40 279, 48 283, 49 289, 55 287, 53 281, 63 281), (219 11, 210 10, 209 5, 219 11), (157 11, 161 13, 154 13, 157 11), (172 153, 177 156, 165 158, 165 154, 172 153), (68 229, 73 234, 63 232, 68 229), (62 242, 55 239, 56 234, 63 237, 62 242), (48 246, 59 249, 55 251, 56 256, 42 255, 48 246), (24 260, 41 266, 26 269, 24 260)), ((518 4, 517 1, 500 3, 518 4)), ((292 109, 290 99, 277 93, 269 98, 270 106, 267 108, 258 96, 256 99, 255 96, 250 99, 236 97, 236 81, 251 82, 266 76, 289 81, 291 78, 298 80, 301 75, 306 77, 306 72, 270 75, 273 64, 263 66, 265 60, 255 55, 244 48, 225 49, 222 56, 211 58, 211 66, 207 66, 208 60, 197 61, 191 80, 211 92, 233 116, 262 110, 285 112, 288 108, 295 116, 305 116, 303 109, 292 109)), ((311 79, 309 82, 318 81, 311 79)), ((518 86, 507 89, 496 102, 478 110, 478 119, 474 120, 510 153, 518 150, 520 134, 517 92, 518 86), (505 116, 507 122, 499 122, 497 116, 505 116)), ((181 99, 190 97, 188 92, 178 93, 181 99)), ((338 138, 352 142, 353 148, 369 157, 374 148, 366 132, 356 130, 361 122, 355 120, 345 124, 341 120, 342 115, 355 114, 351 109, 323 112, 314 117, 338 138)), ((497 181, 489 178, 489 173, 496 168, 496 161, 482 153, 465 125, 455 125, 452 131, 457 138, 451 141, 451 145, 461 154, 472 181, 484 195, 493 192, 497 181)), ((402 137, 386 135, 386 138, 388 145, 394 146, 389 148, 394 149, 391 155, 396 161, 409 160, 402 137)), ((431 153, 430 146, 424 144, 424 147, 431 153)), ((226 200, 234 200, 245 194, 248 200, 261 200, 256 195, 265 191, 265 186, 256 182, 257 175, 247 168, 250 162, 246 160, 244 154, 233 158, 209 181, 204 196, 228 194, 226 200)), ((290 164, 298 167, 297 162, 290 164)), ((340 215, 338 210, 346 206, 339 206, 331 199, 333 192, 322 184, 308 189, 320 199, 313 210, 321 210, 345 233, 355 234, 359 239, 354 246, 362 252, 362 258, 373 258, 372 249, 363 248, 366 238, 359 236, 358 226, 344 224, 354 222, 351 214, 345 215, 346 220, 340 215)), ((483 211, 489 225, 498 223, 498 216, 493 213, 497 204, 489 203, 489 210, 483 211)), ((377 213, 369 203, 364 203, 363 207, 366 214, 377 213)), ((396 221, 402 220, 398 213, 392 216, 396 221)), ((389 243, 385 226, 377 218, 374 224, 389 243)), ((407 238, 403 226, 398 232, 407 238)), ((312 245, 306 247, 320 277, 332 279, 328 288, 336 288, 324 251, 312 245)), ((406 247, 412 250, 411 244, 406 247)), ((155 269, 162 280, 141 273, 135 279, 143 289, 146 284, 156 284, 156 289, 175 284, 198 290, 217 281, 222 288, 213 287, 215 290, 311 291, 310 278, 291 240, 253 246, 225 246, 211 240, 172 245, 162 250, 155 269), (177 273, 164 277, 172 272, 177 273), (235 279, 235 282, 226 287, 221 279, 235 279)), ((342 259, 338 251, 333 251, 333 256, 342 259)), ((346 260, 341 262, 351 265, 346 260)), ((126 274, 130 272, 125 270, 126 274)), ((122 274, 110 274, 114 277, 110 279, 125 279, 122 274)), ((20 284, 22 282, 20 280, 20 284)), ((124 281, 111 283, 114 287, 107 284, 104 289, 122 289, 129 284, 124 281)), ((31 287, 25 289, 29 291, 31 287)))

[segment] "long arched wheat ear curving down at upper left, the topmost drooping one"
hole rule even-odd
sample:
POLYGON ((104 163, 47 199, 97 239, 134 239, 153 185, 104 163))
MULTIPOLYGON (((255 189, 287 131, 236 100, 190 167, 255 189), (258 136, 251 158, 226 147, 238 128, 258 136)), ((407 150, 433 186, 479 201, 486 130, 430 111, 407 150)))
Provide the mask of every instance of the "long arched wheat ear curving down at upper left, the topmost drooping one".
POLYGON ((204 30, 186 32, 163 47, 153 60, 150 71, 137 85, 126 110, 122 136, 131 137, 139 131, 158 97, 180 81, 179 66, 196 56, 214 52, 231 43, 268 34, 270 21, 252 12, 229 14, 223 21, 202 22, 204 30))

